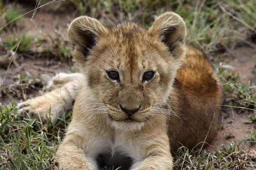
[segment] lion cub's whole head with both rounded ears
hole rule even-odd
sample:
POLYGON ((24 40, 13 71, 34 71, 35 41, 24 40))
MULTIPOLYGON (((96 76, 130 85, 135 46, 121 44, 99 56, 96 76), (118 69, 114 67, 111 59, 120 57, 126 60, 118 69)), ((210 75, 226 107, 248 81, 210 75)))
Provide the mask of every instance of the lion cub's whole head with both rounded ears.
POLYGON ((185 55, 186 26, 166 12, 150 28, 124 22, 110 27, 91 17, 70 24, 67 39, 93 99, 106 103, 115 127, 141 127, 172 89, 185 55))

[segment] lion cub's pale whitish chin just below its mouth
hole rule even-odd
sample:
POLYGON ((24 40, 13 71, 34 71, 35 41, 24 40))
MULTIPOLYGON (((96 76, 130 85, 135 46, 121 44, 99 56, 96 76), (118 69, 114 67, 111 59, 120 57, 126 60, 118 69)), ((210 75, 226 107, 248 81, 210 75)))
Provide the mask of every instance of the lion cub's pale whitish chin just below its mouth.
POLYGON ((145 122, 137 122, 131 120, 124 120, 124 121, 111 121, 112 126, 116 130, 122 131, 134 131, 134 130, 141 130, 141 128, 145 125, 145 122))

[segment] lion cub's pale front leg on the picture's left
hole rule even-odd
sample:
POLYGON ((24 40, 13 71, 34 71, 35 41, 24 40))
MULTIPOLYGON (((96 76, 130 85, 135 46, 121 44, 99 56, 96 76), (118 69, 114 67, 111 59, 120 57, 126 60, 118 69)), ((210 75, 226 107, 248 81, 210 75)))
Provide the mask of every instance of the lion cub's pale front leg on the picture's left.
POLYGON ((97 170, 96 157, 92 154, 92 152, 97 152, 97 147, 99 147, 93 148, 92 146, 96 136, 86 129, 79 132, 82 129, 83 127, 77 127, 76 132, 71 129, 73 133, 68 131, 56 153, 55 159, 58 167, 55 170, 97 170))

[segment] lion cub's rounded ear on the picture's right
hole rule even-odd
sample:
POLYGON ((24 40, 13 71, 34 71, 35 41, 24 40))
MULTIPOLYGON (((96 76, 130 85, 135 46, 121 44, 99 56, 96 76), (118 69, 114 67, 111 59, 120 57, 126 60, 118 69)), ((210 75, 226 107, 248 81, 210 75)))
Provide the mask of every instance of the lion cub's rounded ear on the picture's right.
POLYGON ((186 24, 178 14, 166 12, 160 15, 149 28, 149 32, 153 36, 157 35, 168 46, 173 57, 185 55, 186 24))

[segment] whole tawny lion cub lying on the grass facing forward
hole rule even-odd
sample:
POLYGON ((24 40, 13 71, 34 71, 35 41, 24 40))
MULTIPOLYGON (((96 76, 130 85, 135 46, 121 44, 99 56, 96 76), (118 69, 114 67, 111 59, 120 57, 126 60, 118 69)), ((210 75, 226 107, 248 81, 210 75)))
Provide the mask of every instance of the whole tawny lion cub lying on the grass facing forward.
MULTIPOLYGON (((166 12, 150 28, 104 27, 78 17, 67 38, 80 74, 59 89, 23 102, 21 110, 52 119, 73 116, 56 160, 60 170, 172 170, 170 150, 210 142, 218 129, 221 84, 201 51, 186 46, 182 18, 166 12), (76 95, 77 94, 77 95, 76 95), (207 135, 208 134, 208 135, 207 135)), ((35 115, 36 116, 36 115, 35 115)))

